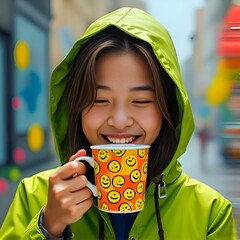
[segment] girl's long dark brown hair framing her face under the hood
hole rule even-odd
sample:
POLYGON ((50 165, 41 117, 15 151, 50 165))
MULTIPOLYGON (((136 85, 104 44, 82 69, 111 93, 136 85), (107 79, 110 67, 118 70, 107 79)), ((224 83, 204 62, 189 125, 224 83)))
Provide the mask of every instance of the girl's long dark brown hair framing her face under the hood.
POLYGON ((67 87, 69 156, 79 149, 91 154, 81 123, 83 109, 91 106, 96 97, 95 68, 100 56, 109 52, 141 54, 152 73, 155 97, 163 115, 158 137, 150 148, 148 182, 169 164, 176 150, 174 133, 178 123, 178 105, 175 85, 159 64, 151 46, 127 33, 109 27, 90 38, 80 49, 69 75, 67 87))

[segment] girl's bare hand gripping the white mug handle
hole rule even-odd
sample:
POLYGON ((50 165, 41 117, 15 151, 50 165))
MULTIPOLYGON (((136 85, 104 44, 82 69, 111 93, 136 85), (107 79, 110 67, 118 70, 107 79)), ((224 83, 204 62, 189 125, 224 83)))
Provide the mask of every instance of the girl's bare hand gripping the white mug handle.
POLYGON ((50 175, 43 226, 53 236, 61 236, 65 227, 79 220, 93 204, 92 192, 86 187, 86 167, 73 161, 85 154, 80 150, 50 175))

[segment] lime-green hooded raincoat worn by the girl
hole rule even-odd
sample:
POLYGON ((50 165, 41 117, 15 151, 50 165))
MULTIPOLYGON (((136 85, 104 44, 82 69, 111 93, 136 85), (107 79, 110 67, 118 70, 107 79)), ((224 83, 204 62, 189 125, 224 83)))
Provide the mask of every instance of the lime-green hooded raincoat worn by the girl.
MULTIPOLYGON (((75 43, 64 61, 55 69, 50 87, 50 119, 59 159, 64 164, 67 152, 67 125, 63 92, 70 66, 83 43, 89 37, 114 25, 128 34, 151 44, 159 63, 175 82, 181 123, 176 129, 178 148, 163 171, 167 195, 159 198, 162 227, 166 240, 232 240, 236 230, 231 203, 210 187, 182 173, 178 158, 185 152, 194 129, 189 100, 184 89, 175 48, 166 29, 147 13, 135 8, 122 8, 94 22, 75 43)), ((49 170, 25 178, 19 184, 14 200, 0 230, 0 239, 44 239, 38 226, 39 214, 47 201, 49 170)), ((162 172, 159 172, 159 176, 162 172)), ((129 239, 159 239, 154 202, 157 178, 150 183, 145 208, 139 212, 129 233, 129 239)), ((71 225, 73 239, 98 239, 99 220, 95 204, 82 219, 71 225)), ((107 213, 104 219, 105 239, 115 239, 107 213)))

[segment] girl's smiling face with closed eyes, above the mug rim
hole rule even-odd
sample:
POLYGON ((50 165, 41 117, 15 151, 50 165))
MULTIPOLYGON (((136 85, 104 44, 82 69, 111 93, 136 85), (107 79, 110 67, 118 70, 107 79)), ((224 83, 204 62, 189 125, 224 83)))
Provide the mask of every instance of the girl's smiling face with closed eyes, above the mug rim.
POLYGON ((109 53, 96 65, 97 96, 82 112, 82 127, 93 144, 151 145, 162 125, 151 74, 141 55, 109 53))

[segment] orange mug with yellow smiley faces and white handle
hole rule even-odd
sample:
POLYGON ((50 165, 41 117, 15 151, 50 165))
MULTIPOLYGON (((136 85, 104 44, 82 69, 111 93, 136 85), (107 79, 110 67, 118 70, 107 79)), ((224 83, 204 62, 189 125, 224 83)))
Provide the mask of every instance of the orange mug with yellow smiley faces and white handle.
POLYGON ((82 156, 94 168, 95 183, 87 187, 98 208, 110 213, 141 211, 147 182, 149 145, 106 144, 91 146, 92 157, 82 156))

